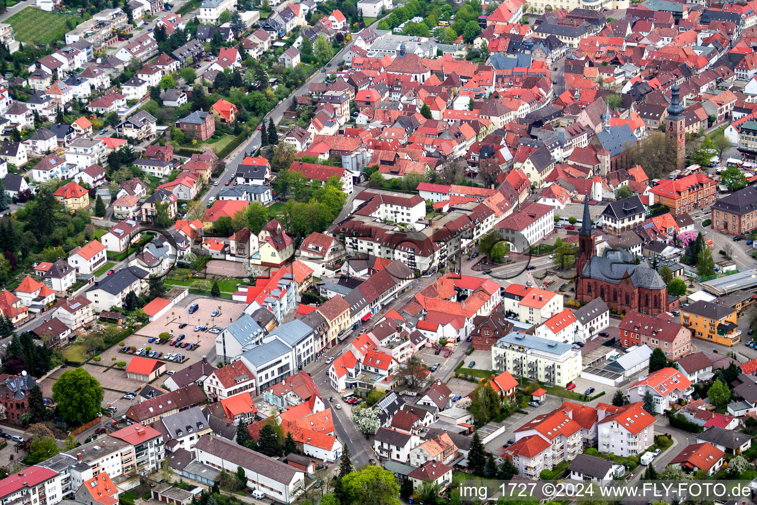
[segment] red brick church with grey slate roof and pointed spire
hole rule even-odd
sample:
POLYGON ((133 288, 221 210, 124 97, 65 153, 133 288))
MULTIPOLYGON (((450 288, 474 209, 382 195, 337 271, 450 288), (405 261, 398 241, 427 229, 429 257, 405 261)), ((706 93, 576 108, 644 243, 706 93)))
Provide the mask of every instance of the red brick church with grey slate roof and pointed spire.
POLYGON ((618 313, 635 310, 653 316, 678 307, 678 299, 668 298, 668 286, 646 261, 635 264, 636 258, 625 249, 605 251, 603 256, 597 256, 596 235, 591 229, 587 202, 578 233, 575 279, 578 301, 587 303, 602 298, 618 313))

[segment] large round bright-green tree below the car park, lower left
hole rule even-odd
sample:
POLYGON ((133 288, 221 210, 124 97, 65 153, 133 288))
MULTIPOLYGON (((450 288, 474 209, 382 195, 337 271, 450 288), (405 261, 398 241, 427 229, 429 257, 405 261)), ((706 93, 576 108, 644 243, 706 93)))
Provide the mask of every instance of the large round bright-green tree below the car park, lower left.
POLYGON ((79 367, 61 374, 52 385, 52 397, 63 419, 79 425, 95 419, 101 410, 104 390, 97 379, 79 367))

